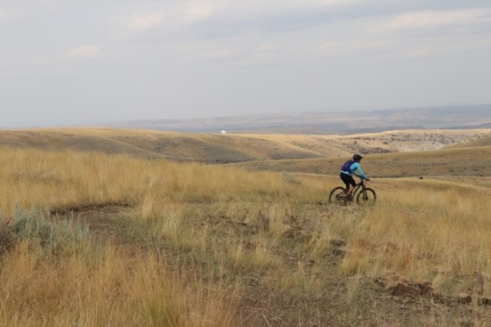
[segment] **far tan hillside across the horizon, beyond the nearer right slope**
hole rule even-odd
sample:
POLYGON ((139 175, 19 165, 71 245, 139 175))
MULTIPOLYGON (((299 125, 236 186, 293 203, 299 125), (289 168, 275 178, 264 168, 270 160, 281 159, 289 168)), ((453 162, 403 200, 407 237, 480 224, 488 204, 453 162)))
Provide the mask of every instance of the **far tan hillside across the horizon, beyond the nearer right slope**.
POLYGON ((406 130, 351 135, 172 133, 150 130, 51 128, 0 131, 0 147, 101 151, 148 159, 238 163, 280 159, 336 159, 353 153, 438 150, 487 144, 483 130, 406 130))

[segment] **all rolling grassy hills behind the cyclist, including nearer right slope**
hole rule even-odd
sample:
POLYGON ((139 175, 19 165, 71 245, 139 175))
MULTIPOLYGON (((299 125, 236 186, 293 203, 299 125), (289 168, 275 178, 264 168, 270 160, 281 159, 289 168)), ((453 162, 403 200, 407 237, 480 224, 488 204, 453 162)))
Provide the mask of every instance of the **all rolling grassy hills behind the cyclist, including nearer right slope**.
POLYGON ((0 146, 100 151, 146 159, 232 164, 337 175, 353 153, 373 177, 491 176, 489 130, 411 130, 353 135, 169 133, 119 129, 0 131, 0 146))

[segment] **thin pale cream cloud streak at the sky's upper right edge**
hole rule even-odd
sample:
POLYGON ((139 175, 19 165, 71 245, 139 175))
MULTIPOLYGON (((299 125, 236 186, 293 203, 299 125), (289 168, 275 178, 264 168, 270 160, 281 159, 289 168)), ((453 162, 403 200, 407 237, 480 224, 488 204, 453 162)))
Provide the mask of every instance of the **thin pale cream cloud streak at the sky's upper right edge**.
POLYGON ((399 30, 437 29, 462 24, 488 22, 491 10, 467 9, 457 11, 422 11, 403 13, 368 28, 370 34, 381 34, 399 30))

